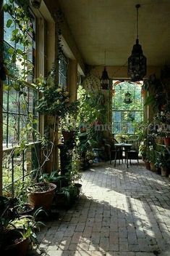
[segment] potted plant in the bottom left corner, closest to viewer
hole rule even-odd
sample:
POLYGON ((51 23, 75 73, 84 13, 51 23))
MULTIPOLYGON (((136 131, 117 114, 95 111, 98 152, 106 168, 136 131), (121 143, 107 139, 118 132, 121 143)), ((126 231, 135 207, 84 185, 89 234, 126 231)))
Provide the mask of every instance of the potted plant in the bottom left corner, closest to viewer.
MULTIPOLYGON (((0 198, 0 252, 1 255, 24 256, 30 242, 37 242, 35 228, 40 223, 34 216, 20 217, 17 214, 16 199, 0 198)), ((41 223, 42 224, 42 223, 41 223)))

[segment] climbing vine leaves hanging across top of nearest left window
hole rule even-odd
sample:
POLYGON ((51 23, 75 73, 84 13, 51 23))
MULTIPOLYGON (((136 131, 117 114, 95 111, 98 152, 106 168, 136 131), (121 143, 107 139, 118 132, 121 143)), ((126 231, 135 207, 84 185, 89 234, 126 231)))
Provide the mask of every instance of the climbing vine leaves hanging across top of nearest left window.
POLYGON ((27 34, 33 33, 33 24, 31 23, 30 15, 28 15, 28 1, 25 1, 25 4, 21 0, 18 0, 17 4, 14 3, 14 0, 9 1, 7 4, 4 4, 4 12, 8 12, 13 17, 13 20, 9 18, 6 24, 7 28, 14 28, 10 40, 22 48, 13 49, 10 47, 7 50, 8 59, 5 59, 4 62, 14 76, 25 80, 27 76, 33 73, 33 67, 29 67, 27 62, 29 49, 32 47, 32 42, 29 40, 27 34), (20 72, 18 72, 16 67, 13 68, 16 63, 20 63, 17 65, 20 72))

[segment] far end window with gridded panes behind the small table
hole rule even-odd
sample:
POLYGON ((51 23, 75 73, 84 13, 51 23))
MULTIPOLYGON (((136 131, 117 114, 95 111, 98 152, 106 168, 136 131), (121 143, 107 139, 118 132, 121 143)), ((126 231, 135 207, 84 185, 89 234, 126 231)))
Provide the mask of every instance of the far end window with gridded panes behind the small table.
POLYGON ((141 83, 113 81, 112 133, 114 135, 137 133, 137 124, 143 121, 141 83), (127 93, 131 98, 129 103, 124 100, 127 93))

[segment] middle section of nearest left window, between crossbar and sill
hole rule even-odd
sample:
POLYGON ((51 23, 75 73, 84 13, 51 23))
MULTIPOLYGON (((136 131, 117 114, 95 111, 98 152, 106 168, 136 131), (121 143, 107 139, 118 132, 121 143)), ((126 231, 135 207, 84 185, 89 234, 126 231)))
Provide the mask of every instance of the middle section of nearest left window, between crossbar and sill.
MULTIPOLYGON (((10 85, 12 83, 14 83, 14 81, 9 79, 8 84, 10 85)), ((25 97, 20 95, 20 92, 10 89, 3 93, 4 148, 9 148, 20 141, 20 131, 27 124, 29 113, 32 113, 35 119, 38 118, 37 112, 35 111, 35 102, 38 97, 36 90, 31 87, 26 87, 25 93, 27 94, 27 109, 25 109, 25 97), (28 109, 29 112, 27 112, 28 109)), ((27 137, 28 142, 31 142, 31 140, 31 137, 27 137)))

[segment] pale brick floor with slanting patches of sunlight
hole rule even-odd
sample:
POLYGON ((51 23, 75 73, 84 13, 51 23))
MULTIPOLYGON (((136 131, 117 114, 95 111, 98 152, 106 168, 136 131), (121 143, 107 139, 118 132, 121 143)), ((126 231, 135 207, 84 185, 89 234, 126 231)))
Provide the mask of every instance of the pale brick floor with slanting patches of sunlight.
POLYGON ((96 164, 82 172, 80 200, 46 224, 32 255, 160 255, 170 246, 169 192, 169 178, 142 163, 96 164))

